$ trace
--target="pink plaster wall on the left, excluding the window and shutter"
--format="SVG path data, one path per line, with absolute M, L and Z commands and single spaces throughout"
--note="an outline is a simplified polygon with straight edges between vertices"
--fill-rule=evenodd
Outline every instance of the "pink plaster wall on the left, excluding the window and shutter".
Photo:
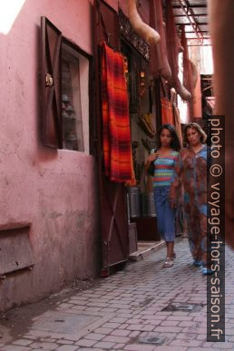
M 92 54 L 92 5 L 89 0 L 25 0 L 10 32 L 0 33 L 0 230 L 30 222 L 34 251 L 32 271 L 0 281 L 0 310 L 44 297 L 73 278 L 93 277 L 100 269 L 93 157 L 38 142 L 40 16 Z

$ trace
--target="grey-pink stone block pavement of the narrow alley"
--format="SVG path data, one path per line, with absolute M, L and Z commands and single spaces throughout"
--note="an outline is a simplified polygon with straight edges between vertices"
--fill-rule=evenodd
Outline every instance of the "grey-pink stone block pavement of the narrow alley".
M 206 342 L 206 277 L 191 265 L 187 239 L 178 241 L 176 253 L 173 268 L 161 268 L 163 248 L 109 278 L 98 279 L 92 288 L 61 298 L 55 308 L 37 313 L 29 321 L 30 327 L 0 345 L 0 350 L 234 348 L 233 251 L 226 248 L 225 343 Z M 171 303 L 197 304 L 200 310 L 163 310 Z M 24 311 L 24 307 L 19 310 Z

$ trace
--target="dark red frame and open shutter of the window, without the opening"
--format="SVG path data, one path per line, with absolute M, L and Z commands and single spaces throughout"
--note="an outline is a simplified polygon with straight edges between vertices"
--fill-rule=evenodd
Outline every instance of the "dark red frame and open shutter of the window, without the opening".
M 48 29 L 49 28 L 49 29 Z M 50 38 L 48 31 L 52 29 L 58 35 L 56 47 L 56 55 L 53 57 L 53 50 L 50 50 Z M 93 55 L 86 53 L 83 49 L 72 40 L 66 38 L 63 32 L 58 29 L 47 17 L 41 17 L 41 70 L 40 70 L 40 104 L 41 104 L 41 142 L 44 146 L 54 148 L 56 150 L 66 150 L 63 148 L 63 122 L 62 122 L 62 46 L 63 44 L 70 46 L 77 54 L 82 55 L 89 63 L 89 153 L 94 153 L 94 69 Z M 57 61 L 57 62 L 56 62 Z M 54 76 L 53 67 L 55 65 L 56 72 Z M 46 74 L 49 73 L 53 77 L 52 86 L 45 85 Z M 46 91 L 47 89 L 47 91 Z M 53 95 L 53 98 L 51 97 Z M 84 135 L 83 135 L 84 139 Z M 76 151 L 76 150 L 74 150 Z M 79 150 L 77 150 L 79 151 Z M 80 151 L 84 152 L 84 151 Z

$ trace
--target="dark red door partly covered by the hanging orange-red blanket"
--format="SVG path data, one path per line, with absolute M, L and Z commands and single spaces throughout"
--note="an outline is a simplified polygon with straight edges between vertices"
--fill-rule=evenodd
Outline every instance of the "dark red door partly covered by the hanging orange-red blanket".
M 94 154 L 100 198 L 102 233 L 102 277 L 122 266 L 129 257 L 128 211 L 126 188 L 105 176 L 103 170 L 101 43 L 120 51 L 119 19 L 117 13 L 101 0 L 94 2 L 94 62 L 95 62 L 95 125 L 93 126 Z

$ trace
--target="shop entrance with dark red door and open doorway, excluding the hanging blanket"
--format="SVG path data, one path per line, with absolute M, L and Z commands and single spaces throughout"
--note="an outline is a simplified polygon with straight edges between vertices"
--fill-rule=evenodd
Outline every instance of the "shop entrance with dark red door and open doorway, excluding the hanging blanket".
M 155 243 L 160 240 L 156 229 L 156 215 L 150 184 L 146 181 L 143 165 L 156 143 L 156 103 L 159 93 L 157 81 L 150 80 L 149 47 L 137 36 L 134 48 L 123 35 L 127 17 L 118 14 L 101 0 L 94 3 L 94 63 L 95 63 L 95 115 L 93 131 L 94 152 L 99 177 L 100 217 L 102 231 L 102 276 L 112 268 L 124 264 L 138 242 Z M 127 22 L 126 22 L 127 24 Z M 131 25 L 130 25 L 131 28 Z M 103 171 L 101 50 L 102 41 L 113 51 L 126 57 L 125 76 L 129 90 L 133 167 L 136 186 L 110 181 Z M 153 244 L 152 244 L 153 245 Z

